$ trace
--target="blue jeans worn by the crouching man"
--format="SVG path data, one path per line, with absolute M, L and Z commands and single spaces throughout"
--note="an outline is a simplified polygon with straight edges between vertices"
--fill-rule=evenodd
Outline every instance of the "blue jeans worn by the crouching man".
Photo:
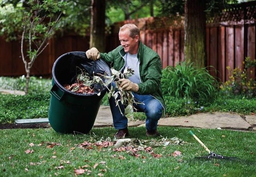
M 114 83 L 112 83 L 113 85 Z M 137 112 L 145 112 L 146 118 L 146 129 L 148 131 L 154 131 L 157 128 L 158 120 L 162 116 L 163 107 L 159 100 L 154 98 L 151 95 L 139 95 L 135 92 L 132 92 L 134 95 L 135 102 L 144 103 L 144 104 L 136 104 L 134 103 L 134 107 L 137 109 Z M 120 99 L 117 98 L 117 100 Z M 122 105 L 119 101 L 119 106 L 121 111 L 124 113 L 124 105 Z M 119 107 L 116 106 L 115 98 L 111 96 L 109 98 L 109 105 L 111 109 L 111 113 L 113 116 L 113 124 L 115 129 L 124 129 L 127 127 L 128 119 L 125 115 L 122 115 Z

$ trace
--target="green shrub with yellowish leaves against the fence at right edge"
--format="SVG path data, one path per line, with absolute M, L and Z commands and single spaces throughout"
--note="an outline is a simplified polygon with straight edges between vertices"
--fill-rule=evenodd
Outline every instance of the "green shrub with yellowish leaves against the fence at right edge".
M 252 75 L 250 68 L 256 66 L 256 60 L 247 57 L 243 64 L 245 66 L 243 70 L 238 67 L 232 70 L 232 76 L 221 86 L 221 90 L 226 94 L 242 95 L 247 98 L 256 97 L 256 80 L 250 76 Z

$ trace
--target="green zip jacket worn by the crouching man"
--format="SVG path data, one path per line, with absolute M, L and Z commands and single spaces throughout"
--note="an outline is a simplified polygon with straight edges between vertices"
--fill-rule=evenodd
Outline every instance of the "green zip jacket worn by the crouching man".
M 124 52 L 120 45 L 109 53 L 100 53 L 100 58 L 106 61 L 115 70 L 120 71 L 124 67 Z M 139 74 L 141 83 L 137 94 L 150 94 L 159 100 L 163 106 L 165 114 L 165 101 L 161 89 L 161 59 L 154 50 L 148 48 L 139 41 L 139 50 L 137 58 L 139 59 Z

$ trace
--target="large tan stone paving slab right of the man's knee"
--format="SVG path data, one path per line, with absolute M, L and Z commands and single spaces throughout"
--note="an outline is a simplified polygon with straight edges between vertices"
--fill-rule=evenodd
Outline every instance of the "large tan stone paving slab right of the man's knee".
M 159 126 L 176 127 L 198 127 L 209 129 L 237 129 L 248 130 L 251 125 L 243 120 L 239 114 L 225 112 L 199 113 L 190 116 L 161 118 L 158 121 Z

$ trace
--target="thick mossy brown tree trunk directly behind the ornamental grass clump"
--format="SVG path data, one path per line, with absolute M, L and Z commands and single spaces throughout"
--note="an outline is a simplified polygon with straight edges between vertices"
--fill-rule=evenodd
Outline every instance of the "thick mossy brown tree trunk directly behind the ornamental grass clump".
M 198 68 L 207 64 L 205 7 L 205 1 L 185 0 L 184 57 Z

